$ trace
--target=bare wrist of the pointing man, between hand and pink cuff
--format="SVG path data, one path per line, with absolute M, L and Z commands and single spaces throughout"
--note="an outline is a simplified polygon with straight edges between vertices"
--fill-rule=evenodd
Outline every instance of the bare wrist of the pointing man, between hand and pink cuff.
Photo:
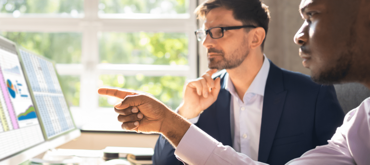
M 190 125 L 191 123 L 184 117 L 171 111 L 165 118 L 159 133 L 176 148 L 186 131 L 190 128 Z

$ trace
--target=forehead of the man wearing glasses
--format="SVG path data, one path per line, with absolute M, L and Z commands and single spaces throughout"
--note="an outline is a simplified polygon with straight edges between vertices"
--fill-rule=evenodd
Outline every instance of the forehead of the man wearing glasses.
M 204 20 L 204 26 L 208 28 L 216 26 L 238 26 L 242 24 L 241 21 L 235 20 L 232 10 L 223 7 L 210 10 Z

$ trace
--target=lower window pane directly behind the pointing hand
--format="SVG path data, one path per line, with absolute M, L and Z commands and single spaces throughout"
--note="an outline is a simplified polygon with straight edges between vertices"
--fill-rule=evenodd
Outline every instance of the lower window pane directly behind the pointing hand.
M 147 77 L 142 74 L 136 76 L 100 75 L 99 86 L 121 87 L 131 90 L 148 92 L 167 106 L 175 109 L 182 99 L 182 88 L 185 77 L 161 76 Z M 99 97 L 100 107 L 113 107 L 120 100 L 115 97 Z

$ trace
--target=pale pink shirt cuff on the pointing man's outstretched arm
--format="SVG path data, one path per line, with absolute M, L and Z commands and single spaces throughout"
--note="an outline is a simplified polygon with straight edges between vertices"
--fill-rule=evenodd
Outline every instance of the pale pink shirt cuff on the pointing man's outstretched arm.
M 218 143 L 214 138 L 192 124 L 177 145 L 175 155 L 187 164 L 205 164 Z

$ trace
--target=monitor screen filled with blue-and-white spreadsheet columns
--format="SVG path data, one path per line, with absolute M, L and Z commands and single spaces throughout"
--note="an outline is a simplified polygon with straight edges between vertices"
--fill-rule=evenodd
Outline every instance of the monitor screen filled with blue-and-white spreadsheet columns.
M 75 129 L 53 63 L 24 48 L 20 48 L 19 53 L 46 138 Z

